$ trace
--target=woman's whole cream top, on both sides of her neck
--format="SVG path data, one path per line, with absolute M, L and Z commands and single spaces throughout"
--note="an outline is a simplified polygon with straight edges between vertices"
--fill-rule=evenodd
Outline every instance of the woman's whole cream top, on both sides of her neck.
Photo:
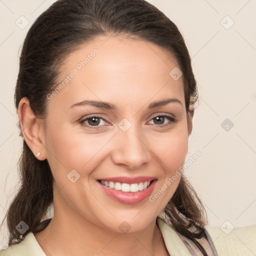
M 177 234 L 159 215 L 156 223 L 171 256 L 199 256 L 193 243 Z M 256 255 L 256 224 L 222 231 L 220 227 L 206 226 L 206 237 L 200 243 L 211 256 Z M 230 232 L 229 232 L 230 231 Z M 229 233 L 228 233 L 229 232 Z M 212 245 L 212 242 L 214 245 Z M 216 248 L 216 251 L 215 251 Z M 217 252 L 217 254 L 216 254 Z M 1 256 L 46 256 L 32 232 L 23 241 L 0 251 Z

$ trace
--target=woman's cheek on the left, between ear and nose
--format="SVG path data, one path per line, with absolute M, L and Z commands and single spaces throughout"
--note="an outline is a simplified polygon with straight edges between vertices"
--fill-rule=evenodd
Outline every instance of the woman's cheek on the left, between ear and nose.
M 104 151 L 104 146 L 111 139 L 113 134 L 96 134 L 77 132 L 62 125 L 59 129 L 54 124 L 49 127 L 45 136 L 47 159 L 54 169 L 65 168 L 67 172 L 71 169 L 77 170 L 80 174 L 91 169 L 95 162 L 99 162 Z

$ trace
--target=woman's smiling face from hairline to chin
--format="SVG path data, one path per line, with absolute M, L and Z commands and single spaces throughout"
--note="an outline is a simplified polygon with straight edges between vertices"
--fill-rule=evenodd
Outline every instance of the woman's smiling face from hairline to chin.
M 68 55 L 58 89 L 47 96 L 44 143 L 54 214 L 118 232 L 155 221 L 187 153 L 177 66 L 153 43 L 114 36 Z

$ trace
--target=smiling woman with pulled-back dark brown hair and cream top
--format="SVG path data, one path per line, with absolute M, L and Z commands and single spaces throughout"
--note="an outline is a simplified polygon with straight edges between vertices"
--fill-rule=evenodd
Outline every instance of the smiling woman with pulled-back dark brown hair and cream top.
M 153 5 L 53 3 L 20 56 L 22 184 L 1 254 L 217 255 L 182 175 L 196 99 L 184 40 Z

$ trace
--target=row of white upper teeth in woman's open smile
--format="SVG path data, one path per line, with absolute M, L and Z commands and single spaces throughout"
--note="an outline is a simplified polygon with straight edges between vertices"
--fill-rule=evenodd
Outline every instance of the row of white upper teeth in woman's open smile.
M 137 191 L 146 189 L 149 186 L 150 181 L 127 184 L 127 183 L 100 180 L 100 183 L 104 186 L 113 188 L 115 190 L 122 190 L 123 192 L 137 192 Z

